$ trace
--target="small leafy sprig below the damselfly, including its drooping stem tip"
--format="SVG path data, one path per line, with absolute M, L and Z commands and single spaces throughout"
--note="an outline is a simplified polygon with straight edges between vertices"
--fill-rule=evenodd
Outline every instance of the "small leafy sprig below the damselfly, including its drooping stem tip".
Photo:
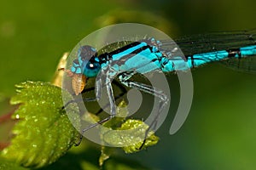
M 140 151 L 148 125 L 142 121 L 134 119 L 125 121 L 126 116 L 129 114 L 126 106 L 127 104 L 125 101 L 121 101 L 117 108 L 117 116 L 113 117 L 108 122 L 104 122 L 103 127 L 100 126 L 101 139 L 109 145 L 121 147 L 125 150 L 125 153 L 134 153 Z M 100 121 L 99 116 L 89 112 L 86 112 L 82 116 L 82 119 L 91 123 Z M 154 132 L 150 131 L 141 150 L 157 144 L 158 140 L 159 138 L 154 135 Z M 101 156 L 99 158 L 100 167 L 103 166 L 104 162 L 107 161 L 112 154 L 112 147 L 102 145 Z

